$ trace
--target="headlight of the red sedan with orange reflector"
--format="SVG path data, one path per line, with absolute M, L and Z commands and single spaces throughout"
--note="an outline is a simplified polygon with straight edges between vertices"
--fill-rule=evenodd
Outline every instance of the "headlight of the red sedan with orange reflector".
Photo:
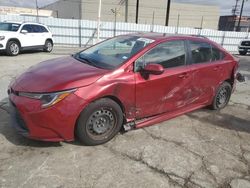
M 55 93 L 27 93 L 19 92 L 19 96 L 28 97 L 32 99 L 40 100 L 42 103 L 42 108 L 47 108 L 53 106 L 54 104 L 60 102 L 68 95 L 76 91 L 76 89 L 71 89 L 67 91 L 60 91 Z

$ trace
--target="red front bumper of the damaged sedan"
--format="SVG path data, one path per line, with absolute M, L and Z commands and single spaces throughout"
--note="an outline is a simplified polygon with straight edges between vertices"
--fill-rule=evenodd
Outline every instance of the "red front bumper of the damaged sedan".
M 77 118 L 87 105 L 71 94 L 52 107 L 42 109 L 39 100 L 9 95 L 11 123 L 21 135 L 42 141 L 72 141 Z

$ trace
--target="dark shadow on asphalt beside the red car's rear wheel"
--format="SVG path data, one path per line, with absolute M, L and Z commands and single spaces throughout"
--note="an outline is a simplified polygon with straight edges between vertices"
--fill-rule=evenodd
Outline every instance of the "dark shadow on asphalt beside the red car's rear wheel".
M 250 106 L 246 110 L 250 110 Z M 199 116 L 197 112 L 205 112 L 209 115 Z M 186 114 L 188 117 L 203 123 L 210 123 L 224 129 L 234 130 L 237 132 L 250 133 L 250 120 L 236 117 L 233 114 L 223 113 L 221 111 L 211 111 L 209 109 L 200 109 Z

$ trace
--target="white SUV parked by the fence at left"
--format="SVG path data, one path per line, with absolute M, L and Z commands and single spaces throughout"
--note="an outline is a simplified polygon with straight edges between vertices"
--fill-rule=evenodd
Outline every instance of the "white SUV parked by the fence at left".
M 53 38 L 49 28 L 32 22 L 0 22 L 0 50 L 15 56 L 25 49 L 51 52 Z

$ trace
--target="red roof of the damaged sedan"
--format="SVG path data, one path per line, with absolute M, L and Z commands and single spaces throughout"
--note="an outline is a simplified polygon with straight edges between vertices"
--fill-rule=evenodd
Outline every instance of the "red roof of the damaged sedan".
M 146 33 L 133 33 L 133 34 L 128 34 L 130 36 L 138 36 L 138 37 L 143 37 L 143 38 L 148 38 L 152 40 L 163 40 L 166 38 L 186 38 L 186 39 L 207 39 L 206 37 L 202 35 L 183 35 L 183 34 L 167 34 L 167 33 L 156 33 L 156 32 L 146 32 Z

